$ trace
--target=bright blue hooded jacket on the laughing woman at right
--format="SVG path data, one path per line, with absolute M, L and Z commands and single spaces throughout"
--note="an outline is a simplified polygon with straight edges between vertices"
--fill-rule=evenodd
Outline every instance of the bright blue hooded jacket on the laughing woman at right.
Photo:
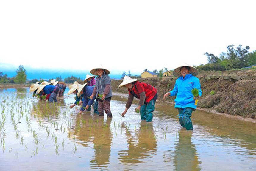
M 175 108 L 191 107 L 196 109 L 195 100 L 191 90 L 197 88 L 199 90 L 199 96 L 202 96 L 201 85 L 199 79 L 192 74 L 187 74 L 183 78 L 182 76 L 176 80 L 174 88 L 170 91 L 170 96 L 176 96 Z

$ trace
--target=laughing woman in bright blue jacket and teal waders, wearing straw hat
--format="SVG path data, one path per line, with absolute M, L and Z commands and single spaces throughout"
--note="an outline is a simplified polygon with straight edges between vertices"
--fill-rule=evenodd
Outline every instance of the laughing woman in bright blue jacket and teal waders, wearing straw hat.
M 187 130 L 193 130 L 190 117 L 192 112 L 196 110 L 196 100 L 202 96 L 200 81 L 195 77 L 197 74 L 198 70 L 188 64 L 174 69 L 173 75 L 178 79 L 173 90 L 163 96 L 164 99 L 167 96 L 176 96 L 174 107 L 179 112 L 179 123 Z

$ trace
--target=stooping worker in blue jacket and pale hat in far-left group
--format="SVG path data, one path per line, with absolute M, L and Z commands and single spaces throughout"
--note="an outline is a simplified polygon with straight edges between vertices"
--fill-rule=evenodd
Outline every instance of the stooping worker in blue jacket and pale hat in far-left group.
M 40 92 L 43 92 L 43 95 L 41 95 L 40 97 L 43 97 L 44 95 L 47 94 L 46 99 L 43 99 L 43 100 L 48 100 L 50 103 L 52 103 L 52 102 L 57 102 L 56 97 L 59 91 L 60 91 L 59 87 L 55 85 L 40 84 L 38 85 L 37 93 L 39 94 Z

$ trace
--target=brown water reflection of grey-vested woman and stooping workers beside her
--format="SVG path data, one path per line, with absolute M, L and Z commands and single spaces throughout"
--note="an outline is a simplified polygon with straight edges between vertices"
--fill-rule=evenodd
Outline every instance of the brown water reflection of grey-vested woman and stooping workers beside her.
M 110 163 L 110 153 L 113 135 L 110 131 L 112 118 L 99 117 L 96 114 L 77 114 L 72 133 L 79 144 L 88 147 L 93 144 L 95 150 L 90 160 L 91 168 L 107 168 Z

